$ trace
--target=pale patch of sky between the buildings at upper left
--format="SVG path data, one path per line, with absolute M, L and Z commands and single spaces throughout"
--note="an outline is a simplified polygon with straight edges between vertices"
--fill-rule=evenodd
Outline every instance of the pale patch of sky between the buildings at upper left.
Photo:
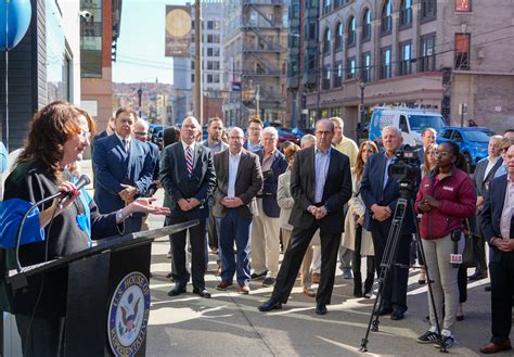
M 172 84 L 172 59 L 164 55 L 166 5 L 193 0 L 124 0 L 113 81 Z

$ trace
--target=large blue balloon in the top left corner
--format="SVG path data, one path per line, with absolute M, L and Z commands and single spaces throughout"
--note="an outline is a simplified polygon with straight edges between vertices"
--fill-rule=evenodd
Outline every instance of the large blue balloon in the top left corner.
M 31 15 L 30 0 L 0 0 L 0 50 L 10 50 L 20 43 L 30 25 Z

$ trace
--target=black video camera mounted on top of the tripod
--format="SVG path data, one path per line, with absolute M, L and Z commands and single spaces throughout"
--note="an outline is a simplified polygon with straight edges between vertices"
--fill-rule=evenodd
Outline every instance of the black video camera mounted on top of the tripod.
M 412 191 L 420 177 L 417 151 L 410 145 L 404 145 L 403 149 L 397 151 L 396 158 L 396 163 L 389 165 L 387 174 L 398 181 L 400 191 Z

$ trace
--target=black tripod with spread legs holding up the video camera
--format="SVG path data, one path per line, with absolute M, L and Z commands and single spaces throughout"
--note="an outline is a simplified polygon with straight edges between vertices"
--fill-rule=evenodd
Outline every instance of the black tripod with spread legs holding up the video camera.
M 384 248 L 384 255 L 382 257 L 381 269 L 380 269 L 380 275 L 378 275 L 378 291 L 375 296 L 375 302 L 373 303 L 373 310 L 371 311 L 370 321 L 368 323 L 368 329 L 365 331 L 364 339 L 362 339 L 362 342 L 359 348 L 360 352 L 368 352 L 368 342 L 369 342 L 368 337 L 370 336 L 370 331 L 374 331 L 374 332 L 378 331 L 378 326 L 380 326 L 378 311 L 382 309 L 382 305 L 384 303 L 383 292 L 386 286 L 386 279 L 390 273 L 391 267 L 398 265 L 396 263 L 396 257 L 398 253 L 398 245 L 400 243 L 400 238 L 401 238 L 401 227 L 403 224 L 403 219 L 406 217 L 406 212 L 408 209 L 411 209 L 412 217 L 414 219 L 415 241 L 417 243 L 417 252 L 420 256 L 423 258 L 423 262 L 425 262 L 426 280 L 427 280 L 427 285 L 428 285 L 428 293 L 431 294 L 432 309 L 434 310 L 434 315 L 435 315 L 436 328 L 437 328 L 437 331 L 441 331 L 440 326 L 439 326 L 439 319 L 437 317 L 435 302 L 434 302 L 434 294 L 432 292 L 432 280 L 428 272 L 428 267 L 426 266 L 425 250 L 423 248 L 423 244 L 421 242 L 420 228 L 417 227 L 417 220 L 415 218 L 416 214 L 415 214 L 414 204 L 413 204 L 414 182 L 410 180 L 400 180 L 398 182 L 398 186 L 400 189 L 400 199 L 398 199 L 398 202 L 396 204 L 395 214 L 393 216 L 393 222 L 389 229 L 389 233 L 387 235 L 387 242 Z M 407 268 L 407 269 L 409 268 L 408 266 L 406 267 L 402 265 L 400 265 L 400 267 Z M 440 343 L 440 352 L 447 353 L 447 348 L 442 344 L 442 335 L 440 333 L 439 333 L 439 343 Z

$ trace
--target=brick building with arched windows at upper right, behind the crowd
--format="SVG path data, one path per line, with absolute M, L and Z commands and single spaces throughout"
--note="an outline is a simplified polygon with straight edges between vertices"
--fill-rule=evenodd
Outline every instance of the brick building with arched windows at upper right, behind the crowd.
M 305 103 L 310 125 L 338 115 L 352 137 L 363 101 L 367 113 L 407 103 L 437 109 L 453 125 L 474 119 L 498 132 L 512 126 L 505 93 L 514 87 L 514 62 L 503 60 L 514 54 L 512 1 L 322 0 L 319 7 L 320 61 L 307 69 L 318 79 Z

